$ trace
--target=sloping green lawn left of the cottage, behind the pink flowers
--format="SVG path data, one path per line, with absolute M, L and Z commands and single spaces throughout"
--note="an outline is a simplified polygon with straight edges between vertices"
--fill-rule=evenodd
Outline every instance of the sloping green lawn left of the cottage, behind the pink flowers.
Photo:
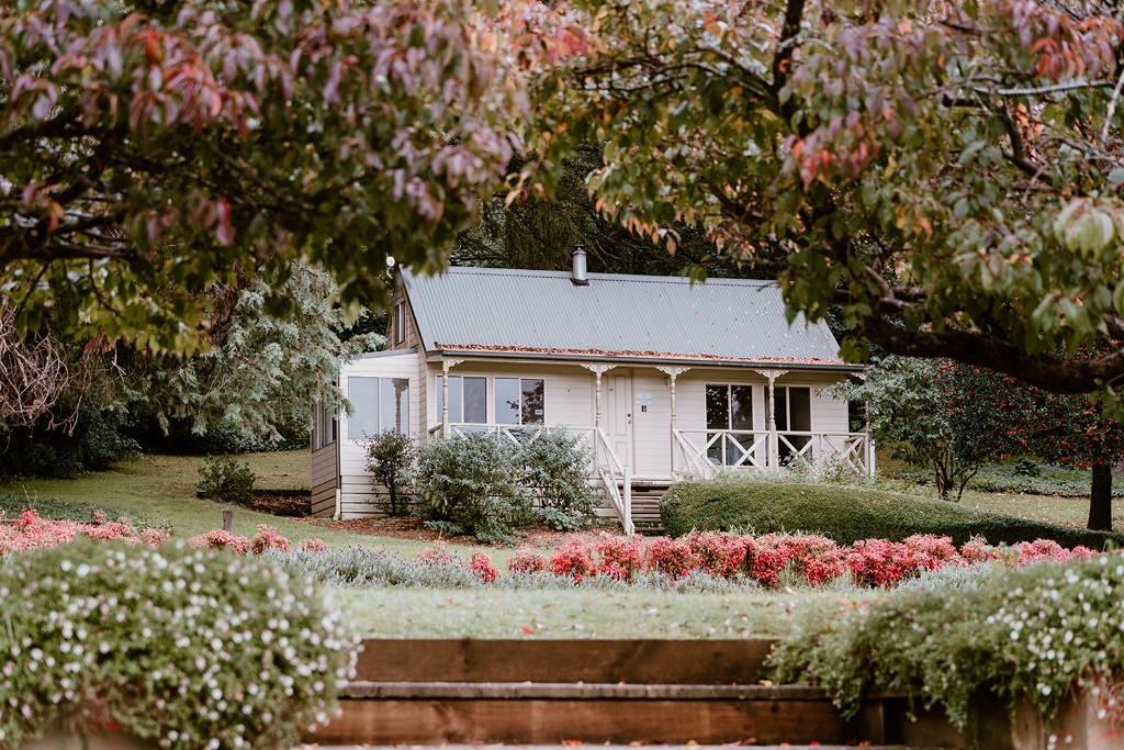
M 275 453 L 248 453 L 242 459 L 257 473 L 259 489 L 307 489 L 309 454 L 307 450 Z M 223 527 L 221 503 L 196 497 L 196 482 L 201 459 L 184 455 L 144 455 L 121 463 L 110 471 L 85 475 L 78 479 L 29 479 L 0 485 L 0 493 L 26 495 L 30 498 L 58 498 L 87 503 L 96 508 L 119 510 L 144 517 L 155 525 L 171 526 L 175 536 L 185 539 Z M 290 540 L 319 537 L 333 546 L 347 544 L 382 546 L 404 557 L 413 557 L 430 546 L 387 536 L 352 534 L 329 528 L 319 519 L 282 518 L 245 508 L 234 508 L 234 531 L 252 535 L 259 524 L 275 526 Z M 469 548 L 451 545 L 452 551 Z M 493 555 L 501 558 L 504 555 Z

